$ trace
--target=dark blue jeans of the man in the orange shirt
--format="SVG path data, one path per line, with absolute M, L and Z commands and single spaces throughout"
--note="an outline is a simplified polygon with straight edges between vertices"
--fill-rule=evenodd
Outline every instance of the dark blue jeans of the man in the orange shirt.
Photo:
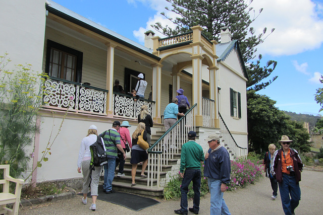
M 290 176 L 283 173 L 283 182 L 278 183 L 278 185 L 279 192 L 281 193 L 283 210 L 286 215 L 291 215 L 301 199 L 301 189 L 299 188 L 299 183 L 296 183 L 295 176 Z

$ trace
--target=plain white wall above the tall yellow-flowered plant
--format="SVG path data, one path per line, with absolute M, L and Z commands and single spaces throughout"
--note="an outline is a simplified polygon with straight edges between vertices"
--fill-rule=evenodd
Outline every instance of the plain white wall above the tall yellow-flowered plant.
M 45 0 L 0 1 L 0 55 L 14 64 L 32 64 L 41 71 L 45 32 Z

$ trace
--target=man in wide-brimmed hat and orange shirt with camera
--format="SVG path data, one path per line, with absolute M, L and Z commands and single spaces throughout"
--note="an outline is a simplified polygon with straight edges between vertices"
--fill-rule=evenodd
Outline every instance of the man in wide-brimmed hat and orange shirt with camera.
M 285 214 L 295 214 L 294 210 L 301 199 L 299 182 L 303 164 L 296 150 L 289 148 L 293 140 L 283 135 L 279 140 L 282 148 L 274 153 L 272 175 L 276 176 Z

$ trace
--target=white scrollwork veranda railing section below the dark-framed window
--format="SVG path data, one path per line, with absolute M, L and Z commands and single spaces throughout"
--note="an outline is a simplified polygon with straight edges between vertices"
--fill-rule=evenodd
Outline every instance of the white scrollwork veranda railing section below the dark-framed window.
M 106 115 L 107 90 L 57 78 L 45 81 L 44 107 Z

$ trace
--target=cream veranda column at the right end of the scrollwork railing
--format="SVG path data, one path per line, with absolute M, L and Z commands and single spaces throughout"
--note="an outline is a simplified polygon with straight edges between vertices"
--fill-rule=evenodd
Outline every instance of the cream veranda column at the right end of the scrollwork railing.
M 161 100 L 161 64 L 152 65 L 152 100 L 156 101 L 153 112 L 153 120 L 161 123 L 160 100 Z

